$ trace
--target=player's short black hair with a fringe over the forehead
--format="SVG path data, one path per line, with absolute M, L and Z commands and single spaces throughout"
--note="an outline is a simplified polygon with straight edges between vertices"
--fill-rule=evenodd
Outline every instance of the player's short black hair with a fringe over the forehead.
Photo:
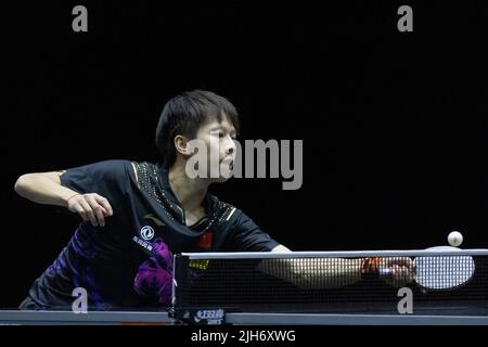
M 234 105 L 223 97 L 210 91 L 187 91 L 170 99 L 164 106 L 156 128 L 156 146 L 163 155 L 164 166 L 171 167 L 176 160 L 175 137 L 196 137 L 196 131 L 206 120 L 222 114 L 239 132 L 239 114 Z

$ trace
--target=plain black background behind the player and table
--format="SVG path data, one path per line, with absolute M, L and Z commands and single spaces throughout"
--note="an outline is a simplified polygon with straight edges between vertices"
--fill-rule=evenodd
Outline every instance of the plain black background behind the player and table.
M 480 2 L 479 2 L 480 3 Z M 88 8 L 88 33 L 72 9 Z M 397 9 L 413 8 L 413 33 Z M 363 1 L 3 8 L 0 307 L 15 307 L 78 219 L 15 194 L 16 178 L 111 158 L 159 160 L 164 103 L 229 98 L 244 139 L 304 140 L 304 184 L 213 187 L 295 250 L 488 246 L 486 9 Z

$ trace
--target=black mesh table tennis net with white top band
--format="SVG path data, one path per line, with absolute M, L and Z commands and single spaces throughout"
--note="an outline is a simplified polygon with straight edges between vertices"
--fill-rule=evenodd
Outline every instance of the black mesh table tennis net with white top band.
M 413 274 L 382 271 L 407 257 L 414 264 Z M 365 259 L 376 264 L 364 268 Z M 466 279 L 468 271 L 473 274 Z M 428 283 L 425 278 L 429 278 Z M 463 283 L 452 285 L 452 279 Z M 399 301 L 408 296 L 414 313 L 488 316 L 485 254 L 413 257 L 406 252 L 389 257 L 277 255 L 266 259 L 193 259 L 179 255 L 175 259 L 175 283 L 176 309 L 391 313 L 398 312 Z

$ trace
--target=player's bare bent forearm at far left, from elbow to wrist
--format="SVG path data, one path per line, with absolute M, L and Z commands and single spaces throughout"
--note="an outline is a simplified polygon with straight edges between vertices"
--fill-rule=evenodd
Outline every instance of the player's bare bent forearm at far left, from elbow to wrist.
M 61 185 L 55 174 L 27 174 L 15 182 L 18 195 L 38 204 L 66 207 L 67 200 L 77 192 Z

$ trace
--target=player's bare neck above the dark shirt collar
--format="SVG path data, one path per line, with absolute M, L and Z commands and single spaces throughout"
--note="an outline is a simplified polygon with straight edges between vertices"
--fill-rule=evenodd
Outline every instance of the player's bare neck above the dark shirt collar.
M 176 163 L 168 172 L 169 185 L 185 211 L 192 213 L 202 207 L 208 190 L 208 182 L 192 179 L 184 171 L 184 166 Z

